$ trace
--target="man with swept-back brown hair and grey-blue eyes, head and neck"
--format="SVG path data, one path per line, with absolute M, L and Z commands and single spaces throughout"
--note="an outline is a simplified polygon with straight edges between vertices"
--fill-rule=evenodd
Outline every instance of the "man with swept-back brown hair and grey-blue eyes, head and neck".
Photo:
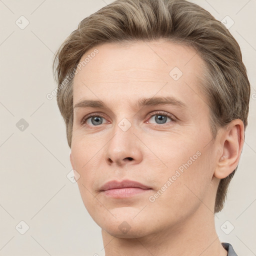
M 105 255 L 236 255 L 214 227 L 250 95 L 229 31 L 185 0 L 117 0 L 83 19 L 54 63 Z

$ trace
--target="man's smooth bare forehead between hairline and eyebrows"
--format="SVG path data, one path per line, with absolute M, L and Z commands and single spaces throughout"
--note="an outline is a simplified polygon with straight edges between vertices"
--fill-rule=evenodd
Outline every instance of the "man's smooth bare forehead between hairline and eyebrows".
M 74 103 L 106 95 L 136 99 L 141 94 L 169 93 L 182 98 L 191 90 L 190 98 L 196 98 L 204 69 L 193 48 L 164 40 L 104 43 L 85 52 L 79 63 L 73 82 Z

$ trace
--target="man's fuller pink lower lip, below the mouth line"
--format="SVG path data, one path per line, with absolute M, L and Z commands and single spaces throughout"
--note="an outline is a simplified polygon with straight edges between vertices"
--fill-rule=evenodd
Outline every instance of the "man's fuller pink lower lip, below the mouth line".
M 149 191 L 151 189 L 142 189 L 139 187 L 124 187 L 124 188 L 113 188 L 102 191 L 105 195 L 114 198 L 130 197 L 139 193 Z

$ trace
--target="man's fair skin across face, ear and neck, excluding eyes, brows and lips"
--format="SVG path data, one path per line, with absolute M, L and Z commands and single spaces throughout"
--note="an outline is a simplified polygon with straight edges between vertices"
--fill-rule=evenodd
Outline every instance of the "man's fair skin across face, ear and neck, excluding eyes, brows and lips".
M 102 228 L 105 255 L 226 255 L 214 227 L 214 201 L 219 179 L 238 164 L 242 121 L 232 120 L 212 139 L 209 106 L 199 87 L 204 63 L 192 48 L 158 40 L 104 43 L 97 49 L 74 77 L 73 106 L 100 99 L 107 107 L 74 109 L 70 162 L 80 175 L 83 203 Z M 183 73 L 178 80 L 169 75 L 173 67 Z M 153 96 L 172 96 L 185 107 L 136 106 L 138 98 Z M 157 111 L 176 119 L 159 124 Z M 102 123 L 89 118 L 82 125 L 89 113 L 103 115 Z M 131 124 L 127 131 L 118 126 L 123 118 Z M 198 151 L 197 159 L 149 201 Z M 105 182 L 123 179 L 151 189 L 128 198 L 99 191 Z M 120 224 L 129 230 L 124 233 Z

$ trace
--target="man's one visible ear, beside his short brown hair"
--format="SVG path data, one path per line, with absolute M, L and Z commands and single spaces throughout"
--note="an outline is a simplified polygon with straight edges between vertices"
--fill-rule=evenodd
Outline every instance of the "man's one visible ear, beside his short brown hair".
M 244 142 L 244 125 L 242 120 L 234 119 L 221 131 L 220 157 L 214 171 L 216 178 L 225 178 L 238 165 Z

